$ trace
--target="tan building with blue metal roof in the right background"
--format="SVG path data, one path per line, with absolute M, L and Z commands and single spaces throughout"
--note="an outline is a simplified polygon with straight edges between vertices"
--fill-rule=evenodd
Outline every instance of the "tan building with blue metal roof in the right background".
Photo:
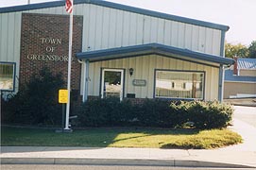
M 256 97 L 256 59 L 235 58 L 225 71 L 224 98 Z

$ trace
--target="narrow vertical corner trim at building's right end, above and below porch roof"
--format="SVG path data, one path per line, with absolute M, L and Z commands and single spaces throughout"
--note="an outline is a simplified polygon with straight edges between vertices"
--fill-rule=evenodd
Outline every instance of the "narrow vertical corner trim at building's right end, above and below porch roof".
M 221 41 L 220 41 L 220 56 L 225 58 L 225 30 L 221 30 Z M 218 76 L 218 101 L 223 102 L 223 89 L 224 89 L 224 66 L 219 65 L 219 76 Z

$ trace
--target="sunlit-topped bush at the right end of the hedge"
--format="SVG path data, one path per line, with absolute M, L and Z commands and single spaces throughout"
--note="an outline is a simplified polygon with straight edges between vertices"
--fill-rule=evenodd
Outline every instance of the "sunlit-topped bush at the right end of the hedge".
M 179 102 L 170 106 L 179 117 L 179 125 L 187 122 L 194 123 L 198 129 L 227 127 L 231 121 L 233 109 L 230 105 L 218 101 Z

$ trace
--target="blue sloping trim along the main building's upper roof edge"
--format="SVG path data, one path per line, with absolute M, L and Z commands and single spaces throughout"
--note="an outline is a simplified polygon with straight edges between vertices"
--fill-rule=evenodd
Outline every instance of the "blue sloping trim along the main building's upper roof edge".
M 102 0 L 75 0 L 75 5 L 77 4 L 94 4 L 97 6 L 107 7 L 107 8 L 116 8 L 121 10 L 126 10 L 130 12 L 135 12 L 143 15 L 158 17 L 162 19 L 177 21 L 181 23 L 196 25 L 196 26 L 205 26 L 214 29 L 228 31 L 230 26 L 224 26 L 219 24 L 214 24 L 210 22 L 200 21 L 196 19 L 181 17 L 177 15 L 162 13 L 158 11 L 153 11 L 145 8 L 136 8 L 127 5 L 112 3 L 108 1 Z M 24 11 L 24 10 L 31 10 L 31 9 L 39 9 L 39 8 L 55 8 L 65 6 L 65 1 L 54 1 L 54 2 L 46 2 L 46 3 L 39 3 L 39 4 L 30 4 L 30 5 L 22 5 L 22 6 L 14 6 L 14 7 L 7 7 L 7 8 L 0 8 L 0 13 L 8 13 L 8 12 L 17 12 L 17 11 Z

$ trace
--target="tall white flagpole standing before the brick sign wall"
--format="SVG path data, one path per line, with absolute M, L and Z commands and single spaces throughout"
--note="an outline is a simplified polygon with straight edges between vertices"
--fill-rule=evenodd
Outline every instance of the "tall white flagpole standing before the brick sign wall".
M 71 0 L 72 5 L 73 5 L 73 0 Z M 70 13 L 69 17 L 69 48 L 68 48 L 68 84 L 67 84 L 67 89 L 68 89 L 68 102 L 67 102 L 67 107 L 66 107 L 66 124 L 65 128 L 66 130 L 69 130 L 69 110 L 70 110 L 70 79 L 71 79 L 71 60 L 72 60 L 72 34 L 73 34 L 73 10 Z

